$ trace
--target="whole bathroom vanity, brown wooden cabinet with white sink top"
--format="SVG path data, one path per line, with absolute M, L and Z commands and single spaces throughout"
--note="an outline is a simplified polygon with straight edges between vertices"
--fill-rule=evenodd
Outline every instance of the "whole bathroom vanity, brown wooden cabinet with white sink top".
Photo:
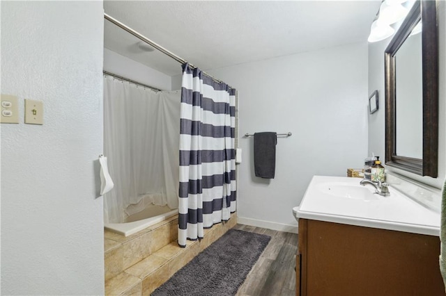
M 445 295 L 440 213 L 390 186 L 314 176 L 302 199 L 297 295 Z

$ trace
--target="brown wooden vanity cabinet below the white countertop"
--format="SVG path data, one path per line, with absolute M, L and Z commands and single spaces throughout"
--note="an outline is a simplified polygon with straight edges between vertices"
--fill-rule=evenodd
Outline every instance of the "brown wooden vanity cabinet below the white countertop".
M 299 220 L 296 295 L 445 295 L 440 238 Z

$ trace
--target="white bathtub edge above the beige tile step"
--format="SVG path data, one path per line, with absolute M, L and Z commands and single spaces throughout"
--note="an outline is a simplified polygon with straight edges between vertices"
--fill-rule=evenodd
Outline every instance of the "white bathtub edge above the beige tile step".
M 155 217 L 150 217 L 144 220 L 128 222 L 128 223 L 105 223 L 104 228 L 113 231 L 115 233 L 121 234 L 122 236 L 131 236 L 142 229 L 145 229 L 153 224 L 162 222 L 164 220 L 173 217 L 178 214 L 178 209 L 164 213 L 162 215 L 157 215 Z

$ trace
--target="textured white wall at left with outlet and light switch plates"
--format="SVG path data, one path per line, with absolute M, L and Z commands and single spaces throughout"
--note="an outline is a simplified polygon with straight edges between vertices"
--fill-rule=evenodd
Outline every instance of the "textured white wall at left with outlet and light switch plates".
M 1 1 L 1 293 L 103 295 L 102 1 Z M 43 126 L 24 124 L 24 99 Z

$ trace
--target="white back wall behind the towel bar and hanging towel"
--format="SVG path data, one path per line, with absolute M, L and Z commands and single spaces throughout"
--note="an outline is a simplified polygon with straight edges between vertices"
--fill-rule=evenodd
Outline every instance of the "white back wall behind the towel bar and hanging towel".
M 209 70 L 240 91 L 240 135 L 278 138 L 275 179 L 253 172 L 253 138 L 241 138 L 240 222 L 290 231 L 315 174 L 346 176 L 367 156 L 367 44 L 311 51 Z M 175 81 L 175 79 L 173 79 Z

